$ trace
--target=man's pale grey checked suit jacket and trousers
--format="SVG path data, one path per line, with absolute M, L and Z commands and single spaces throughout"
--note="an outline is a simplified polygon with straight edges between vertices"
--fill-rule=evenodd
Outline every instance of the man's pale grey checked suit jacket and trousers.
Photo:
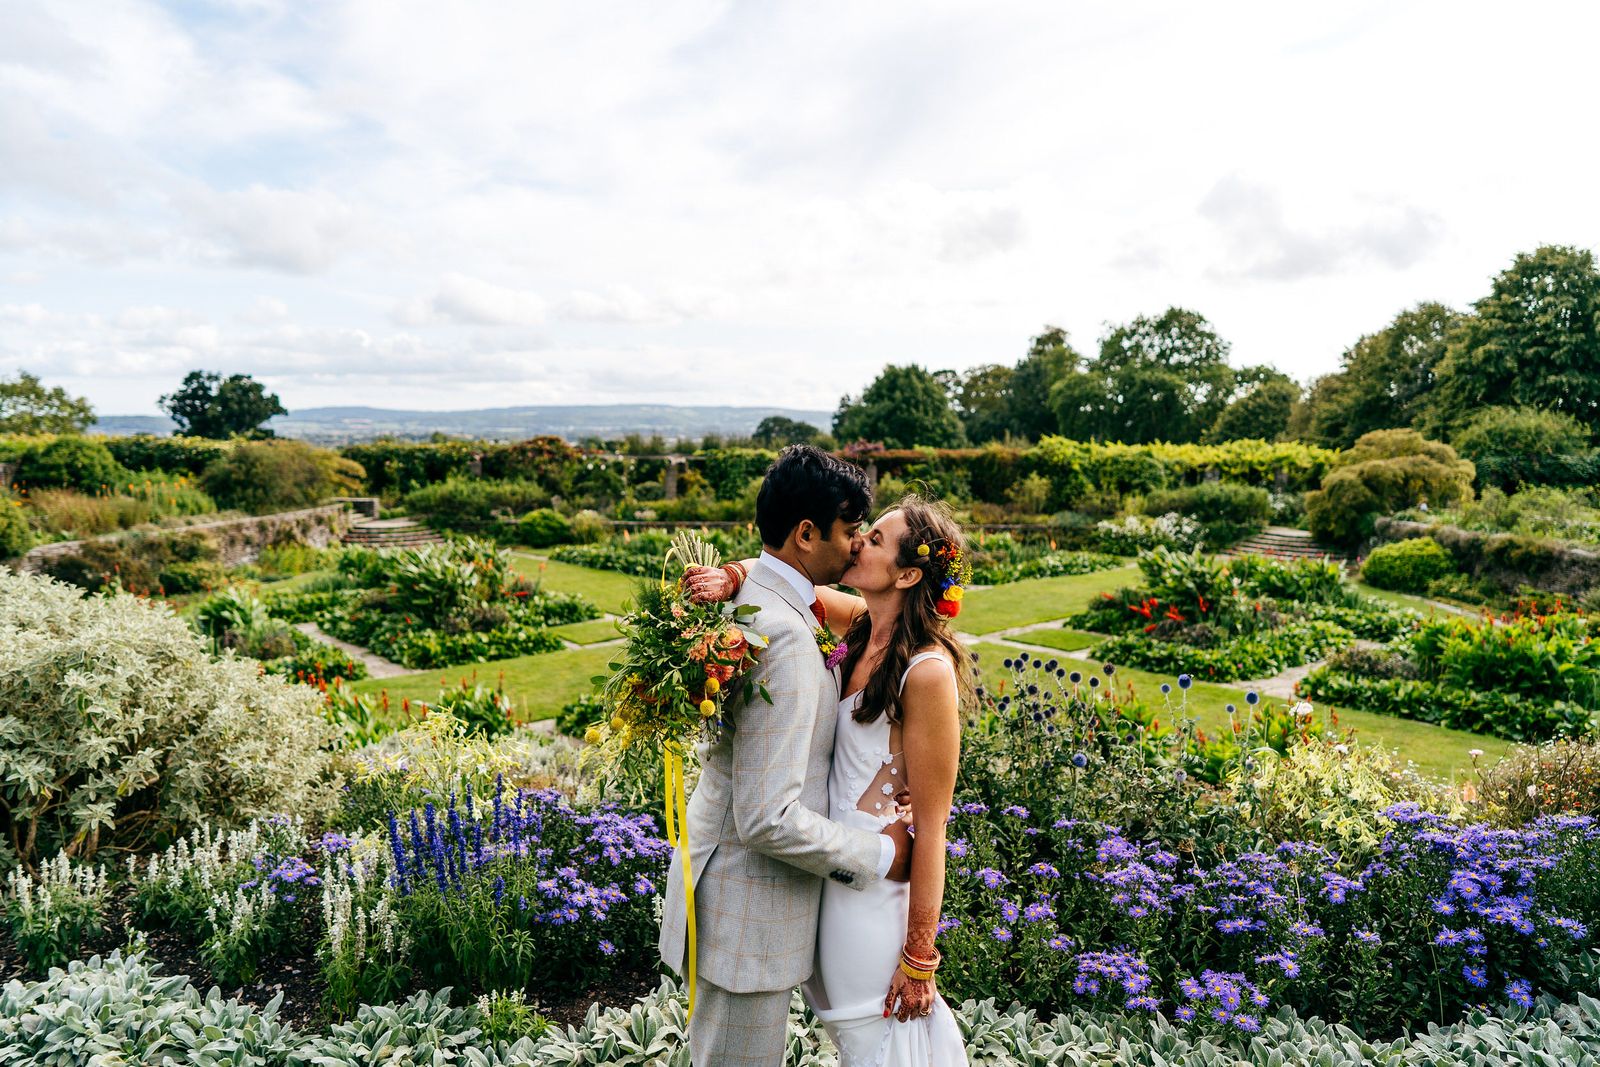
M 790 990 L 816 960 L 821 878 L 866 886 L 893 849 L 822 814 L 840 681 L 813 637 L 810 598 L 763 557 L 734 603 L 760 606 L 750 625 L 768 646 L 752 673 L 773 702 L 734 689 L 725 709 L 733 729 L 699 745 L 688 806 L 699 945 L 690 1048 L 696 1067 L 779 1067 Z M 683 859 L 674 854 L 661 958 L 680 974 L 685 941 Z

